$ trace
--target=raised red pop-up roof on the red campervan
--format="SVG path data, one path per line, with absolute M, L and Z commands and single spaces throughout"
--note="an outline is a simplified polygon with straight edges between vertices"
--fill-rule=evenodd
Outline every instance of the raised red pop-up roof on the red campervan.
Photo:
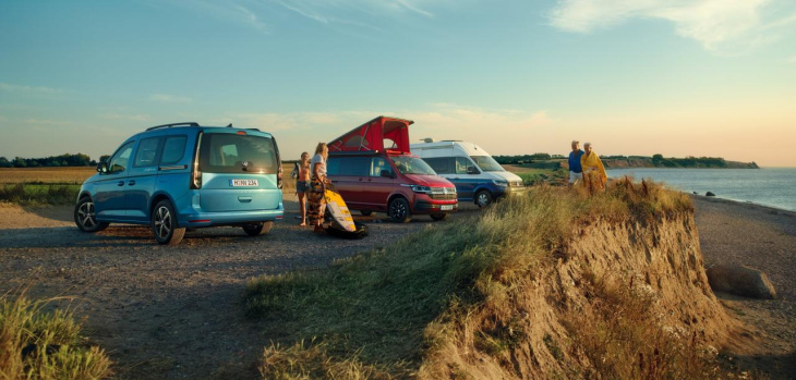
M 335 138 L 328 144 L 329 152 L 387 151 L 409 154 L 409 125 L 414 122 L 378 117 Z

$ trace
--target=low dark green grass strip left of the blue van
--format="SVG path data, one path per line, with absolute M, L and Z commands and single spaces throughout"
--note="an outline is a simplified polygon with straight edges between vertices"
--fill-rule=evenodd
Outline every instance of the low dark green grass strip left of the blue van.
M 74 205 L 81 185 L 17 183 L 0 185 L 0 201 L 21 206 Z

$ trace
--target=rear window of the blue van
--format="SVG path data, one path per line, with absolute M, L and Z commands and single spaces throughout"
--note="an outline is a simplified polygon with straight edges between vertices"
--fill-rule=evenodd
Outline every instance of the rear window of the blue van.
M 273 138 L 227 133 L 204 134 L 198 161 L 208 173 L 276 173 L 279 164 Z

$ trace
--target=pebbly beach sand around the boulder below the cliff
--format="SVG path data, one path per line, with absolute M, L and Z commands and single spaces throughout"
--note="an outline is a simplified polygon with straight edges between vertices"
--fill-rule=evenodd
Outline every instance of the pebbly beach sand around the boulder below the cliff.
M 796 378 L 796 212 L 703 196 L 694 203 L 705 266 L 759 269 L 776 290 L 776 299 L 716 293 L 750 330 L 727 354 L 772 379 Z

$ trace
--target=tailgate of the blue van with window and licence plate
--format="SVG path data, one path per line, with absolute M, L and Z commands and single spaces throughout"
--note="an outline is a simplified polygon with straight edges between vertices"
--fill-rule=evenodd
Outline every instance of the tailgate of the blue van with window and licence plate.
M 201 137 L 200 206 L 205 212 L 279 208 L 279 155 L 274 137 L 249 130 L 207 131 Z

